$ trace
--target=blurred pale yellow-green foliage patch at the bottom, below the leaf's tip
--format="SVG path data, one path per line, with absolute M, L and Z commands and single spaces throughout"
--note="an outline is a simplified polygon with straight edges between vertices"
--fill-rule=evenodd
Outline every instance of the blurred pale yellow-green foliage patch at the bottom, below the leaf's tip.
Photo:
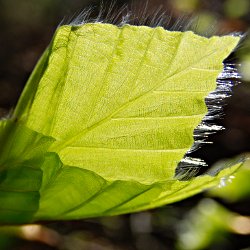
M 235 215 L 211 199 L 203 199 L 180 223 L 179 250 L 209 249 L 212 242 L 223 242 Z M 211 249 L 211 248 L 210 248 Z

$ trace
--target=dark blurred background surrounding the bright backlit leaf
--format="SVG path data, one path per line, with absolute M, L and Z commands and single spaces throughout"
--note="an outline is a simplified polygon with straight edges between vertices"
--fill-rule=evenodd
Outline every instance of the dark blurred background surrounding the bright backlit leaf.
M 114 1 L 103 0 L 102 2 L 103 6 L 109 6 Z M 140 15 L 141 9 L 145 6 L 149 15 L 153 15 L 161 6 L 162 11 L 171 15 L 172 22 L 180 20 L 183 16 L 187 19 L 195 19 L 194 26 L 191 28 L 199 34 L 221 35 L 237 31 L 245 33 L 250 26 L 249 0 L 151 0 L 147 4 L 140 0 L 117 0 L 114 5 L 119 8 L 124 4 L 130 6 L 135 15 Z M 89 6 L 96 7 L 93 11 L 94 16 L 98 14 L 100 1 L 0 0 L 0 117 L 7 115 L 15 107 L 35 63 L 49 44 L 59 23 L 62 20 L 69 20 Z M 233 59 L 241 64 L 239 70 L 243 80 L 241 84 L 234 87 L 234 95 L 228 98 L 225 105 L 224 119 L 219 121 L 227 129 L 210 138 L 214 141 L 212 146 L 207 146 L 198 152 L 199 156 L 210 164 L 225 157 L 250 151 L 250 39 L 248 35 Z M 245 176 L 249 177 L 247 170 Z M 247 183 L 247 180 L 245 182 Z M 237 185 L 234 185 L 235 189 L 238 188 Z M 202 238 L 198 232 L 207 230 L 211 223 L 209 217 L 206 217 L 204 208 L 218 210 L 217 215 L 223 208 L 225 214 L 242 216 L 246 219 L 246 225 L 250 227 L 250 222 L 247 220 L 250 216 L 250 187 L 248 183 L 245 186 L 244 192 L 247 195 L 233 201 L 220 195 L 217 197 L 214 194 L 200 194 L 170 206 L 133 215 L 54 222 L 28 229 L 11 228 L 7 231 L 4 229 L 2 234 L 0 233 L 0 249 L 249 250 L 250 230 L 247 231 L 248 233 L 242 233 L 235 228 L 235 230 L 228 228 L 228 225 L 221 226 L 221 223 L 212 224 L 214 230 L 211 229 L 205 233 L 212 236 L 205 237 L 203 245 L 195 247 L 191 244 L 193 241 L 198 244 L 199 239 Z M 196 214 L 198 219 L 191 214 Z M 205 224 L 200 223 L 197 227 L 198 231 L 195 231 L 194 221 L 202 221 L 202 218 L 207 218 L 207 221 L 205 219 Z M 224 218 L 223 215 L 221 218 Z M 187 224 L 192 226 L 188 227 Z M 219 230 L 220 234 L 217 234 L 216 230 Z M 193 232 L 191 234 L 193 239 L 190 239 L 188 231 Z

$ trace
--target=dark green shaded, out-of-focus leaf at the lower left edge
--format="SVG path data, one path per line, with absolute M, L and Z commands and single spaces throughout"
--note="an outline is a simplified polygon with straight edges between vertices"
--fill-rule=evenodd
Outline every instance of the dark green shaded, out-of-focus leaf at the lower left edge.
M 54 139 L 12 121 L 1 132 L 0 223 L 27 223 L 39 208 L 41 165 Z

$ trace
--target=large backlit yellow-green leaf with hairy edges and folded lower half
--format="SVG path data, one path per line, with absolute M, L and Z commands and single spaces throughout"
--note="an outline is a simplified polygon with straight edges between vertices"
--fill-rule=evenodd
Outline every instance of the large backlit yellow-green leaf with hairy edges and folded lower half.
M 217 185 L 240 164 L 190 181 L 174 173 L 238 41 L 160 27 L 60 27 L 1 129 L 0 179 L 22 190 L 14 169 L 36 183 L 32 220 L 139 211 Z

